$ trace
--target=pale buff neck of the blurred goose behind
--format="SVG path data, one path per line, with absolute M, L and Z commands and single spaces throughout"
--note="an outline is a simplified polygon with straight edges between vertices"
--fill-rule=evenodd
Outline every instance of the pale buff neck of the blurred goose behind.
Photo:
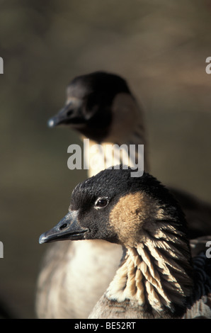
M 94 168 L 89 167 L 89 176 L 93 176 L 99 171 L 117 164 L 136 166 L 141 159 L 142 161 L 144 159 L 144 171 L 149 172 L 142 108 L 129 94 L 118 94 L 113 101 L 112 110 L 112 125 L 110 126 L 108 137 L 101 143 L 101 149 L 96 147 L 98 142 L 89 140 L 89 147 L 84 152 L 86 165 L 90 165 L 91 161 L 91 166 L 95 165 Z M 128 158 L 130 145 L 135 147 L 134 158 Z M 144 145 L 144 152 L 139 149 L 138 145 Z M 117 146 L 122 146 L 120 154 Z

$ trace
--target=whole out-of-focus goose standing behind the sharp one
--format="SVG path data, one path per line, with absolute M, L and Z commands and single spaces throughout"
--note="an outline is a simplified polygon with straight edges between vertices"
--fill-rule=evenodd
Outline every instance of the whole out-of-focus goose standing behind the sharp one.
M 49 120 L 49 125 L 64 125 L 78 131 L 81 137 L 89 138 L 89 147 L 96 143 L 101 143 L 103 149 L 110 143 L 119 146 L 135 144 L 136 147 L 142 144 L 144 171 L 149 171 L 142 108 L 131 94 L 127 82 L 115 74 L 94 72 L 76 77 L 67 87 L 66 106 Z M 85 153 L 89 159 L 91 149 Z M 89 176 L 105 169 L 102 156 L 98 156 L 101 160 L 98 169 L 88 170 Z M 115 165 L 115 160 L 111 160 L 111 164 Z M 132 164 L 130 160 L 128 164 Z M 192 226 L 190 236 L 209 233 L 207 220 L 210 220 L 211 209 L 179 191 L 176 196 L 185 203 L 183 209 Z M 121 253 L 117 244 L 97 240 L 52 244 L 38 278 L 38 317 L 86 318 L 113 278 Z M 87 266 L 84 266 L 84 261 Z M 105 263 L 108 265 L 106 269 Z M 102 278 L 96 279 L 99 272 L 102 272 Z M 85 281 L 89 281 L 86 290 L 82 287 Z

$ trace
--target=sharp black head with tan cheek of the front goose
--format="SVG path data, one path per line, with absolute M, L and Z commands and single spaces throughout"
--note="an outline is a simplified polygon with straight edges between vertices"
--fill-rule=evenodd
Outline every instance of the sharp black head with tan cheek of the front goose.
M 103 239 L 124 247 L 168 229 L 186 235 L 177 201 L 153 176 L 131 177 L 131 169 L 105 169 L 74 188 L 69 212 L 40 236 L 40 243 L 64 239 Z M 167 236 L 166 236 L 167 237 Z

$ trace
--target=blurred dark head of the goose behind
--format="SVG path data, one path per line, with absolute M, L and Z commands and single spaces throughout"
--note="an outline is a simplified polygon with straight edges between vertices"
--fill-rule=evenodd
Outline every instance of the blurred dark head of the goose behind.
M 48 125 L 67 126 L 96 142 L 115 141 L 121 139 L 121 132 L 123 135 L 137 125 L 142 115 L 137 108 L 125 79 L 93 72 L 69 83 L 65 106 L 48 120 Z

